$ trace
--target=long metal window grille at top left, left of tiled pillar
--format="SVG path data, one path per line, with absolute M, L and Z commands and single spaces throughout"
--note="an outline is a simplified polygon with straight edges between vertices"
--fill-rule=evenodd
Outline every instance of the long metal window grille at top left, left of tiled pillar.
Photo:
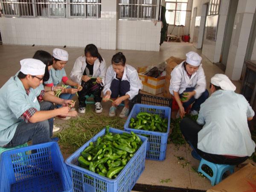
M 5 17 L 100 18 L 101 0 L 0 0 Z

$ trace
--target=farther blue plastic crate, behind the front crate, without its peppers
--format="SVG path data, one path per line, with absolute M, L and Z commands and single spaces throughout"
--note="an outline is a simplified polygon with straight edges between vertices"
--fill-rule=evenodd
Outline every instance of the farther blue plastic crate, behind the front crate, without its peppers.
M 163 106 L 155 106 L 155 105 L 143 105 L 143 104 L 135 104 L 129 114 L 124 128 L 125 131 L 133 131 L 134 133 L 146 134 L 148 135 L 148 144 L 146 151 L 146 159 L 150 160 L 159 160 L 163 161 L 166 157 L 166 145 L 167 139 L 170 131 L 170 122 L 171 122 L 171 108 L 163 107 Z M 151 114 L 158 114 L 159 116 L 168 119 L 168 128 L 166 133 L 157 132 L 157 131 L 145 131 L 140 129 L 132 129 L 129 128 L 130 119 L 135 118 L 138 113 L 147 112 Z

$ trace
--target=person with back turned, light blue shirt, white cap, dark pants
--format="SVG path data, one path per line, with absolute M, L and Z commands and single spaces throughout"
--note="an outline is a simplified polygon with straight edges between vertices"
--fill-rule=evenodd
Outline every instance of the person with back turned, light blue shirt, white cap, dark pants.
M 195 149 L 193 157 L 238 165 L 255 150 L 247 122 L 253 119 L 254 111 L 243 95 L 234 92 L 235 85 L 224 74 L 211 78 L 210 90 L 212 94 L 201 104 L 197 122 L 183 118 L 181 132 Z

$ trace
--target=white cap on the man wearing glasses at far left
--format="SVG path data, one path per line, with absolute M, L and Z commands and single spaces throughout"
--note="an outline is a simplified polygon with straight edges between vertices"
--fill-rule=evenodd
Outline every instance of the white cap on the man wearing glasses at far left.
M 44 75 L 46 67 L 46 65 L 42 61 L 33 58 L 22 59 L 20 61 L 20 65 L 20 72 L 25 75 L 30 74 L 32 76 Z

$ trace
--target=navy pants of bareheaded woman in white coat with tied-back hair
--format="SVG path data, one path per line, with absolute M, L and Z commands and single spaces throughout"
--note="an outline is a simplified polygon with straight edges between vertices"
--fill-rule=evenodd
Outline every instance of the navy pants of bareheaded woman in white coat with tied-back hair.
M 118 95 L 125 96 L 125 94 L 130 90 L 129 81 L 121 81 L 113 79 L 110 86 L 111 98 L 116 99 Z

